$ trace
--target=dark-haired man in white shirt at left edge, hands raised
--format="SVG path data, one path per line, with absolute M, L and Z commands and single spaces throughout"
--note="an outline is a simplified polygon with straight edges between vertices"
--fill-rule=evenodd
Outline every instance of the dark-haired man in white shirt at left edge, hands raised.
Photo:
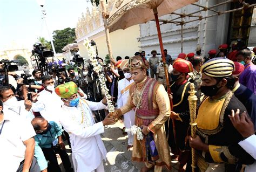
M 38 94 L 32 94 L 33 101 L 36 101 Z M 26 98 L 25 100 L 18 101 L 14 92 L 8 86 L 0 87 L 0 100 L 3 102 L 4 110 L 3 111 L 12 111 L 14 114 L 23 116 L 28 120 L 34 118 L 32 101 Z

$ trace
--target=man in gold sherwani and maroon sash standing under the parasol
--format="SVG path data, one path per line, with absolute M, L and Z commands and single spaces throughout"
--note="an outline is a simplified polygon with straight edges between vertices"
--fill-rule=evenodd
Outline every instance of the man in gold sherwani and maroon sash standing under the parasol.
M 154 167 L 161 171 L 162 166 L 171 169 L 171 156 L 166 139 L 164 123 L 171 114 L 170 100 L 163 85 L 147 77 L 149 65 L 140 56 L 129 59 L 129 68 L 134 84 L 130 87 L 127 103 L 117 109 L 113 116 L 118 117 L 131 109 L 136 112 L 135 125 L 142 128 L 143 140 L 134 135 L 132 160 L 145 162 L 142 171 Z

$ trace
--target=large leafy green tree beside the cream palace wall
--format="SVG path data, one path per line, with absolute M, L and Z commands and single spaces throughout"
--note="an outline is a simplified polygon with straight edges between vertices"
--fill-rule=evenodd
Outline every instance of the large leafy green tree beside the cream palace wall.
M 64 46 L 74 43 L 76 40 L 75 28 L 66 28 L 53 31 L 53 44 L 55 51 L 61 53 Z

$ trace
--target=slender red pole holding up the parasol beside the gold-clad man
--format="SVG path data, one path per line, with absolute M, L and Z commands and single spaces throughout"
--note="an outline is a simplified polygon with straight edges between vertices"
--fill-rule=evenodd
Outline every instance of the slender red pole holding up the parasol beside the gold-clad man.
M 167 70 L 167 66 L 166 66 L 166 59 L 165 59 L 165 54 L 164 54 L 164 46 L 163 46 L 163 40 L 162 40 L 162 36 L 161 36 L 161 30 L 160 30 L 160 25 L 159 25 L 157 8 L 154 8 L 153 12 L 154 12 L 154 18 L 155 18 L 156 24 L 157 24 L 157 33 L 158 33 L 160 50 L 161 50 L 161 56 L 162 56 L 163 63 L 164 63 L 164 72 L 165 72 L 165 78 L 166 78 L 167 93 L 171 94 L 171 87 L 170 87 L 170 82 L 169 82 L 169 74 L 168 74 L 168 70 Z M 172 104 L 172 100 L 171 99 L 170 99 L 170 105 L 171 105 L 171 111 L 172 111 L 173 110 L 173 104 Z M 169 119 L 170 119 L 170 117 L 169 117 Z M 178 148 L 177 147 L 177 137 L 176 137 L 176 127 L 175 127 L 175 121 L 174 120 L 172 120 L 172 129 L 173 129 L 173 136 L 174 136 L 175 147 Z M 174 152 L 178 153 L 178 149 L 174 150 Z

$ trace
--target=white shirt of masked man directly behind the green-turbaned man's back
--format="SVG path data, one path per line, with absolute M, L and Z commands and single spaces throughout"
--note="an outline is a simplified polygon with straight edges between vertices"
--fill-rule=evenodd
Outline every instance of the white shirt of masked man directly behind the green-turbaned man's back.
M 43 110 L 40 111 L 40 114 L 48 121 L 58 122 L 58 109 L 63 105 L 63 101 L 60 97 L 53 91 L 52 93 L 46 90 L 38 93 L 37 105 L 42 107 Z

